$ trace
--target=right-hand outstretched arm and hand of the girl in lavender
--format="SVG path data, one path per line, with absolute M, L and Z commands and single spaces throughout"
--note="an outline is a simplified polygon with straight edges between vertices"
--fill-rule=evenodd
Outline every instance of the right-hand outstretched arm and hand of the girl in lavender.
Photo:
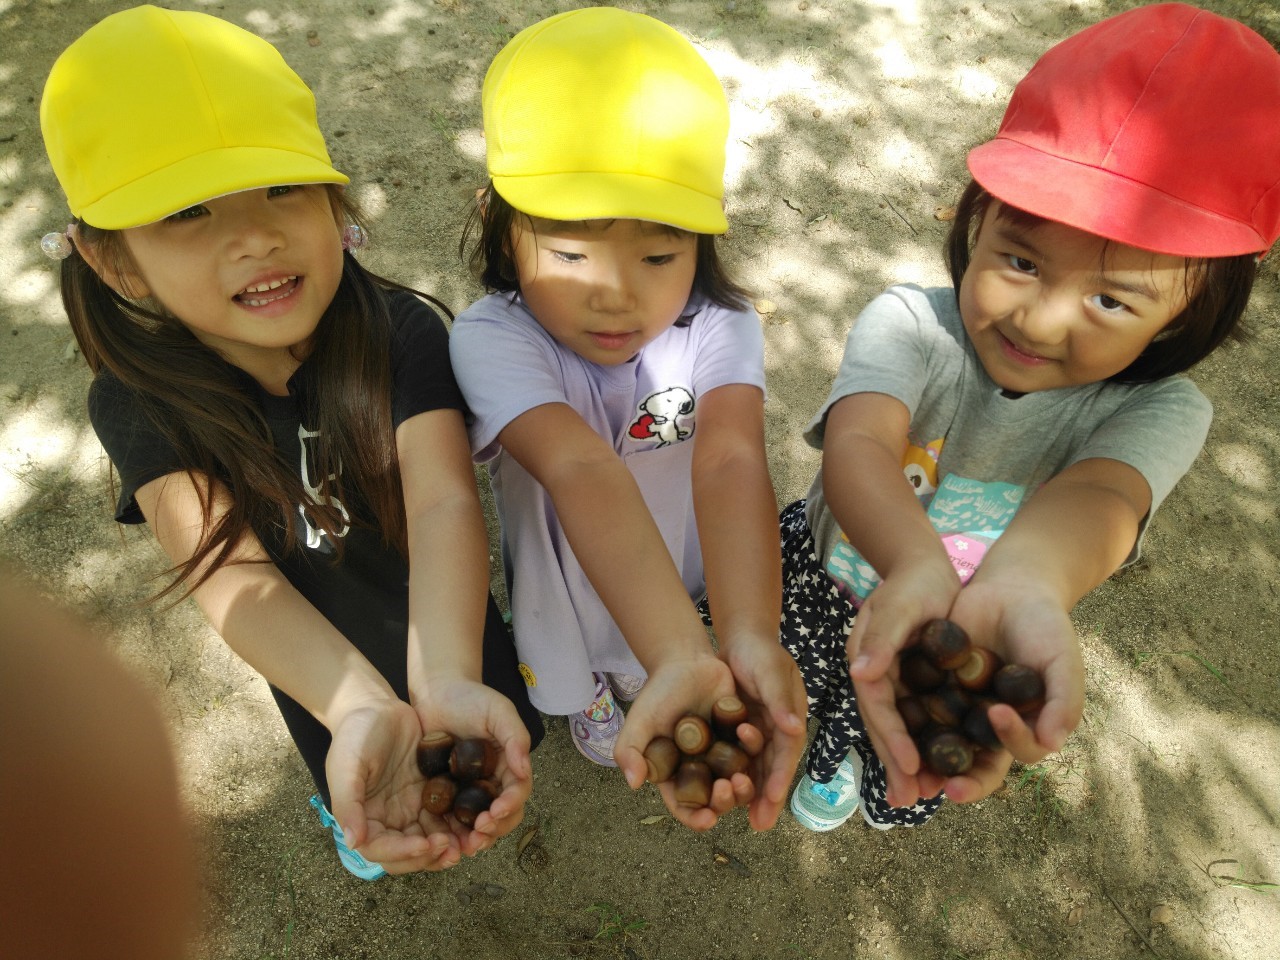
M 778 643 L 782 556 L 758 388 L 730 384 L 699 399 L 692 475 L 721 655 L 765 737 L 750 820 L 768 829 L 782 812 L 804 751 L 806 704 L 800 671 Z

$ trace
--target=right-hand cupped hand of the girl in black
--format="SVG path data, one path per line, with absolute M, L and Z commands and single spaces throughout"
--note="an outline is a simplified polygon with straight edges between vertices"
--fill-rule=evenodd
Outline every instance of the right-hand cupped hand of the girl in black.
M 502 792 L 493 805 L 470 828 L 449 818 L 463 854 L 474 856 L 488 850 L 525 817 L 525 803 L 534 787 L 529 731 L 511 700 L 484 684 L 463 678 L 433 678 L 430 696 L 417 703 L 417 714 L 424 731 L 484 737 L 502 748 L 493 776 Z

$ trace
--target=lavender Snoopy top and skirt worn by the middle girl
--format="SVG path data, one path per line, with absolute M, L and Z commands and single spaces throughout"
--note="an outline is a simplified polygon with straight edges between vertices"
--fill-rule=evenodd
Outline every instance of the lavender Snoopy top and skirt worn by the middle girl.
M 567 403 L 631 471 L 691 598 L 704 593 L 694 517 L 698 404 L 726 384 L 764 389 L 764 335 L 755 311 L 690 305 L 627 364 L 600 366 L 566 349 L 524 301 L 492 294 L 453 324 L 449 355 L 472 417 L 471 451 L 488 463 L 502 522 L 512 623 L 529 699 L 544 713 L 584 709 L 591 672 L 644 676 L 586 579 L 547 490 L 498 435 L 521 413 Z M 554 443 L 554 436 L 547 438 Z M 636 579 L 636 591 L 646 586 Z

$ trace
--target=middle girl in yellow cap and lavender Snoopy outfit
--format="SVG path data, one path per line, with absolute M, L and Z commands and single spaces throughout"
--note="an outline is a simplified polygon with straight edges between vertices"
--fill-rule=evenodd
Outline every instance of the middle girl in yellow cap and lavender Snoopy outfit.
M 724 92 L 671 27 L 590 8 L 498 54 L 484 128 L 472 265 L 497 293 L 458 316 L 451 352 L 530 699 L 637 787 L 649 740 L 736 681 L 763 708 L 763 788 L 739 774 L 692 809 L 663 795 L 694 828 L 748 801 L 769 827 L 803 749 L 804 689 L 777 644 L 760 323 L 716 252 Z M 704 590 L 723 660 L 695 608 Z M 623 726 L 616 698 L 641 685 Z

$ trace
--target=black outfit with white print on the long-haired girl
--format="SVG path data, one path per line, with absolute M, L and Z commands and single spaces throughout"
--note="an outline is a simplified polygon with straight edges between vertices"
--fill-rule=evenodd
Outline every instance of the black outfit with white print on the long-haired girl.
M 393 426 L 431 410 L 465 410 L 449 366 L 444 321 L 408 293 L 390 293 L 389 306 Z M 306 383 L 305 370 L 306 362 L 289 379 L 287 397 L 269 394 L 248 374 L 243 375 L 242 385 L 262 410 L 282 460 L 296 465 L 303 483 L 314 489 L 319 485 L 312 466 L 315 434 L 301 419 L 308 408 L 307 398 L 298 396 Z M 122 524 L 146 522 L 136 494 L 152 480 L 184 470 L 177 451 L 143 412 L 137 397 L 110 372 L 95 378 L 88 412 L 93 430 L 120 475 L 115 518 Z M 283 549 L 283 525 L 256 532 L 285 579 L 365 654 L 401 698 L 407 699 L 408 566 L 367 522 L 370 515 L 358 495 L 348 497 L 352 502 L 343 503 L 343 508 L 352 518 L 365 522 L 352 524 L 347 530 L 342 563 L 333 563 L 328 536 L 314 530 L 301 512 L 301 522 L 296 524 L 298 541 L 289 552 Z M 513 648 L 492 598 L 485 625 L 484 680 L 515 701 L 536 744 L 541 737 L 541 722 L 529 705 Z M 328 731 L 274 686 L 271 692 L 328 804 L 324 780 Z

